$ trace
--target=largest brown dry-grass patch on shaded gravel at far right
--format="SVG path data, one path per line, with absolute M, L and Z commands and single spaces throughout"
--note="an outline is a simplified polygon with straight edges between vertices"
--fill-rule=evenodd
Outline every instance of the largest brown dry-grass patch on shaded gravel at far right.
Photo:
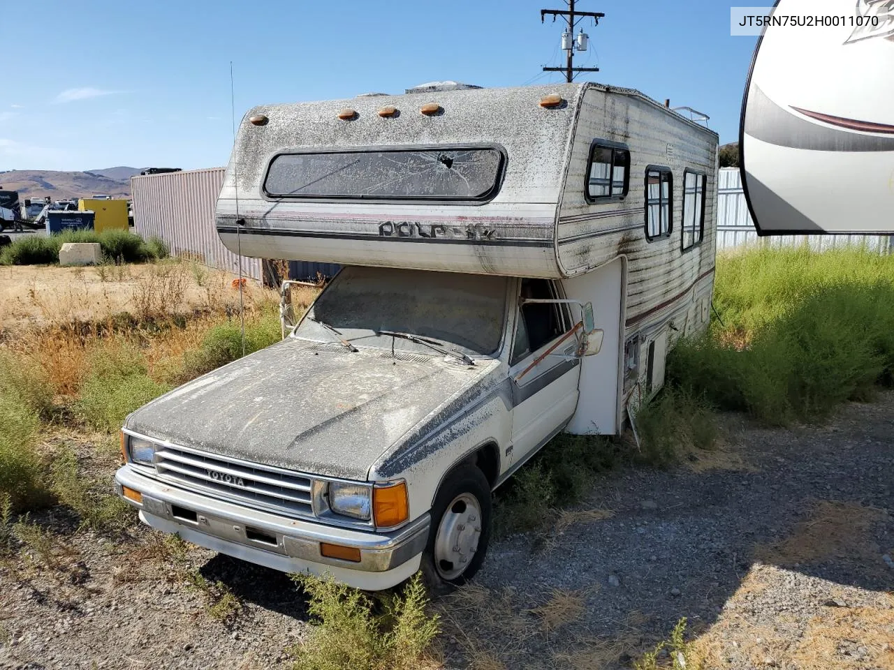
M 819 500 L 789 537 L 755 550 L 764 563 L 801 565 L 835 560 L 869 566 L 880 564 L 881 548 L 873 541 L 873 528 L 886 516 L 884 510 L 854 502 Z

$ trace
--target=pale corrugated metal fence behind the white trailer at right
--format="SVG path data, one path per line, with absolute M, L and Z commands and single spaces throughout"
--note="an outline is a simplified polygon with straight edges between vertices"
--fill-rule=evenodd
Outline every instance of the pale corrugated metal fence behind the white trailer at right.
M 721 168 L 717 194 L 717 250 L 735 247 L 797 247 L 817 251 L 835 247 L 865 246 L 880 254 L 894 253 L 891 235 L 780 235 L 758 238 L 751 221 L 738 168 Z

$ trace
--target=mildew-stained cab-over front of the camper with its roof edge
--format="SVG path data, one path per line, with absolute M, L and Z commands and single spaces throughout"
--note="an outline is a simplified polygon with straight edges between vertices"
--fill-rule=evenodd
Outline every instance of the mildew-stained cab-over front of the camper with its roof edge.
M 608 98 L 588 98 L 588 122 L 606 138 L 628 137 L 622 108 L 636 104 L 716 145 L 713 131 L 628 88 L 441 89 L 455 83 L 251 109 L 217 201 L 223 244 L 268 258 L 557 274 L 555 225 L 587 91 L 620 105 L 608 118 Z M 391 243 L 410 239 L 439 244 Z M 499 261 L 482 251 L 498 246 Z

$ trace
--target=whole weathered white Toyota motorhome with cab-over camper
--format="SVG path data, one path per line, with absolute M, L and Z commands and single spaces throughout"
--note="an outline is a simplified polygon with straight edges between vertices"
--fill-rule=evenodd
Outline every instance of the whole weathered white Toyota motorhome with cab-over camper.
M 343 269 L 282 342 L 130 415 L 119 491 L 275 569 L 463 582 L 491 492 L 560 431 L 619 432 L 707 327 L 717 140 L 597 84 L 252 109 L 223 243 Z

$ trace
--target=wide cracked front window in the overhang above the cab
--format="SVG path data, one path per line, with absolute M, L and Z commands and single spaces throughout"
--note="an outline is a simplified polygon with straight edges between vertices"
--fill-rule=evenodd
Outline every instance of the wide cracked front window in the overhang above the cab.
M 491 147 L 282 154 L 264 188 L 271 197 L 482 201 L 499 190 L 503 163 Z

